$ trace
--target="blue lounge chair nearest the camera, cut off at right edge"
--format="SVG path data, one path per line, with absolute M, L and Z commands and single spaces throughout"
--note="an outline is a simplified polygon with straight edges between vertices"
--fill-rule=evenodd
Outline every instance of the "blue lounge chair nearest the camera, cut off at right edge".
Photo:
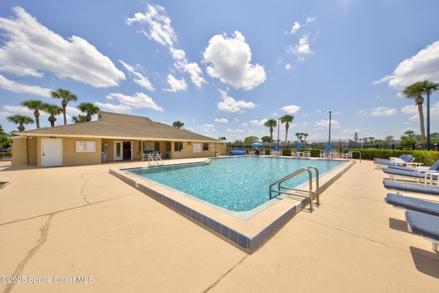
M 431 250 L 439 253 L 439 217 L 415 211 L 406 211 L 407 229 L 409 232 L 422 235 L 431 242 Z

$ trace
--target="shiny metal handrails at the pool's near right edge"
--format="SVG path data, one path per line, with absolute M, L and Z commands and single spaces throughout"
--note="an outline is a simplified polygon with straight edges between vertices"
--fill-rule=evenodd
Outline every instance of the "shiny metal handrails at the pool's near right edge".
M 312 179 L 312 173 L 311 170 L 309 169 L 313 169 L 316 170 L 316 191 L 313 191 L 313 179 Z M 295 177 L 301 173 L 304 172 L 308 172 L 309 175 L 309 191 L 307 190 L 300 190 L 300 189 L 296 189 L 296 188 L 289 188 L 289 187 L 285 187 L 285 186 L 281 186 L 281 183 L 283 183 L 284 181 L 287 181 L 288 179 L 291 179 L 292 177 Z M 273 190 L 273 186 L 278 186 L 278 190 Z M 308 194 L 298 194 L 296 192 L 287 192 L 287 191 L 282 191 L 281 188 L 286 189 L 286 190 L 295 190 L 298 192 L 308 192 Z M 288 194 L 288 195 L 295 195 L 295 196 L 302 196 L 305 198 L 309 198 L 309 211 L 313 212 L 313 200 L 314 200 L 314 196 L 313 194 L 316 194 L 316 199 L 317 199 L 317 203 L 316 205 L 319 206 L 320 205 L 320 186 L 319 186 L 319 181 L 318 181 L 318 168 L 314 167 L 314 166 L 309 166 L 307 168 L 301 168 L 299 170 L 297 170 L 296 172 L 287 175 L 286 177 L 283 177 L 282 179 L 279 179 L 278 181 L 272 183 L 270 185 L 270 199 L 273 198 L 272 196 L 272 192 L 276 192 L 278 193 L 277 196 L 281 195 L 281 194 Z

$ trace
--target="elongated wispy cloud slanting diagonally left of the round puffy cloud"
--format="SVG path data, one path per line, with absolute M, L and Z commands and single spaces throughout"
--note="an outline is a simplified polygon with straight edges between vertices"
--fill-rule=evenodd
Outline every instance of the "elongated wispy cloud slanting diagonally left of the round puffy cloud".
M 147 36 L 147 38 L 150 38 L 150 40 L 152 39 L 169 49 L 169 53 L 176 61 L 174 67 L 178 69 L 178 71 L 189 73 L 191 81 L 198 88 L 206 82 L 204 77 L 202 77 L 203 73 L 200 66 L 195 62 L 188 63 L 185 51 L 175 47 L 175 43 L 178 41 L 177 34 L 171 25 L 171 18 L 167 16 L 165 8 L 160 5 L 148 4 L 147 11 L 144 14 L 137 12 L 134 14 L 134 17 L 128 18 L 126 22 L 128 25 L 132 25 L 133 23 L 146 24 L 147 29 L 142 29 L 141 32 Z M 176 80 L 171 82 L 174 81 Z M 172 86 L 176 86 L 176 88 L 173 88 Z M 186 90 L 186 88 L 187 86 L 183 88 L 182 83 L 180 82 L 177 84 L 171 84 L 171 90 L 168 91 L 176 92 L 178 90 Z

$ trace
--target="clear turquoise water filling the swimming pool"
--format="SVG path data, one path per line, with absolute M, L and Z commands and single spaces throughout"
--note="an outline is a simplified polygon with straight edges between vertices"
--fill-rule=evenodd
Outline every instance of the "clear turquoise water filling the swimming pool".
M 215 158 L 209 163 L 137 168 L 130 172 L 236 212 L 249 211 L 270 201 L 270 184 L 300 168 L 314 166 L 319 175 L 343 161 L 281 157 Z M 313 176 L 315 172 L 312 171 Z M 308 181 L 307 172 L 285 182 L 296 187 Z

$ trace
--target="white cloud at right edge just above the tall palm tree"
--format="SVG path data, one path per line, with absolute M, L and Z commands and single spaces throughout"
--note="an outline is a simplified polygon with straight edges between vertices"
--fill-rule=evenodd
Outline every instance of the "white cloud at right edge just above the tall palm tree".
M 439 80 L 439 41 L 430 44 L 420 50 L 412 58 L 403 60 L 392 73 L 373 84 L 387 82 L 390 87 L 401 90 L 416 81 L 425 79 L 430 81 Z

